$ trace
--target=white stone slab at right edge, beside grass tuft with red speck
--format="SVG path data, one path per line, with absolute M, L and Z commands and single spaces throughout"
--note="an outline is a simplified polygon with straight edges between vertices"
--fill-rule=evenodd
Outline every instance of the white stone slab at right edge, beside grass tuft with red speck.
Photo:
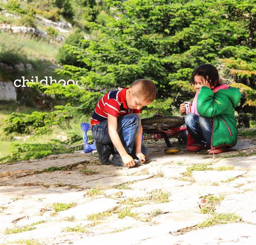
M 225 196 L 224 200 L 216 206 L 218 213 L 228 212 L 241 215 L 254 211 L 256 211 L 255 191 Z

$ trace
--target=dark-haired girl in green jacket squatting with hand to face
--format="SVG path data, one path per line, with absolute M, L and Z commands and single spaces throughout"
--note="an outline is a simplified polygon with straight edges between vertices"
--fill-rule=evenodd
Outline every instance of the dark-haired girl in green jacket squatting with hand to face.
M 210 154 L 225 152 L 236 145 L 238 130 L 234 108 L 241 93 L 238 88 L 221 85 L 218 70 L 210 64 L 195 68 L 191 82 L 197 93 L 192 111 L 185 116 L 188 131 L 187 150 L 197 152 L 210 149 Z M 180 105 L 185 114 L 185 105 Z

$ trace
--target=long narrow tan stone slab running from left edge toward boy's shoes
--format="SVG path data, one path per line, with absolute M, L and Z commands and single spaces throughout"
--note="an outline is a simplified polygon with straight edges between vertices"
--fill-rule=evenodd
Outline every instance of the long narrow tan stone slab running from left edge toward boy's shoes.
M 92 158 L 88 157 L 71 157 L 64 159 L 47 159 L 31 163 L 16 163 L 12 165 L 0 165 L 0 177 L 16 175 L 20 173 L 34 173 L 43 171 L 50 167 L 76 166 L 80 163 L 87 163 Z

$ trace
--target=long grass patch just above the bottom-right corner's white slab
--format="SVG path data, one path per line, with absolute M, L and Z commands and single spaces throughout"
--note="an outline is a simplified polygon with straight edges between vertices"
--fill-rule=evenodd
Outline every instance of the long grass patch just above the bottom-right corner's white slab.
M 204 228 L 213 225 L 221 225 L 227 223 L 241 222 L 241 217 L 237 216 L 235 213 L 225 213 L 225 214 L 215 214 L 210 219 L 197 224 L 197 227 Z

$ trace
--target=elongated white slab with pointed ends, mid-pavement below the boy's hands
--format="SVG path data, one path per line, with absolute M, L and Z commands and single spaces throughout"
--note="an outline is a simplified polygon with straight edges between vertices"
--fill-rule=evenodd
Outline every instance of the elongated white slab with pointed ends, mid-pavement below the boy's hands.
M 170 188 L 174 186 L 184 186 L 190 184 L 191 183 L 189 181 L 171 180 L 166 178 L 150 178 L 148 180 L 143 180 L 138 183 L 131 184 L 129 185 L 129 187 L 132 189 L 151 192 L 157 189 L 168 191 Z

